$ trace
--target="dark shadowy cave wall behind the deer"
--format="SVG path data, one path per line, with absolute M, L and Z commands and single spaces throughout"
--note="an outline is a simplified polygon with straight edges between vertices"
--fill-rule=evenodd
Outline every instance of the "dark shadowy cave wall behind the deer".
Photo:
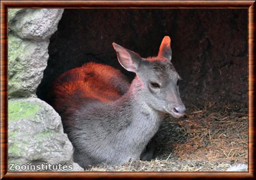
M 52 81 L 89 61 L 119 68 L 132 80 L 112 42 L 142 57 L 156 56 L 166 35 L 184 80 L 185 106 L 206 101 L 247 106 L 247 9 L 66 9 L 50 39 L 37 96 L 49 102 Z

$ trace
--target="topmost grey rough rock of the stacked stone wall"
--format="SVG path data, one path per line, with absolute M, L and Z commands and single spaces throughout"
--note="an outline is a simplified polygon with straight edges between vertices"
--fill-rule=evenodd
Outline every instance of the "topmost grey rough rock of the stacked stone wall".
M 26 9 L 16 19 L 13 18 L 14 15 L 11 16 L 14 20 L 9 29 L 22 39 L 49 39 L 57 30 L 62 13 L 63 9 Z M 15 14 L 15 10 L 12 14 Z

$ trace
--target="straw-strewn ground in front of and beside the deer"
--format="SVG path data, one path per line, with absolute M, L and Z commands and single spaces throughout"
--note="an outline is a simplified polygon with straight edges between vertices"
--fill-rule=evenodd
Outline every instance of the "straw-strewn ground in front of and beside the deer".
M 187 107 L 180 119 L 166 117 L 152 161 L 105 164 L 86 171 L 226 171 L 248 164 L 247 108 L 227 102 Z

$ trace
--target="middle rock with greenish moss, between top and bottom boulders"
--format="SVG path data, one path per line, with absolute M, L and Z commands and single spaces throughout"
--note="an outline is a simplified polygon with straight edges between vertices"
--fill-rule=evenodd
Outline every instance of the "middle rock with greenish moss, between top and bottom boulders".
M 33 96 L 48 60 L 48 41 L 27 41 L 8 37 L 9 98 Z M 34 95 L 35 96 L 35 95 Z

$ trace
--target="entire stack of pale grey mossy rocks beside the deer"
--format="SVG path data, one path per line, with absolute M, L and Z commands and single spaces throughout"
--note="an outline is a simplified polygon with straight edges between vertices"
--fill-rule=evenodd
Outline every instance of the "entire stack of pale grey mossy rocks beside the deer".
M 47 66 L 49 38 L 63 9 L 8 10 L 8 163 L 73 165 L 73 146 L 60 116 L 36 98 Z

